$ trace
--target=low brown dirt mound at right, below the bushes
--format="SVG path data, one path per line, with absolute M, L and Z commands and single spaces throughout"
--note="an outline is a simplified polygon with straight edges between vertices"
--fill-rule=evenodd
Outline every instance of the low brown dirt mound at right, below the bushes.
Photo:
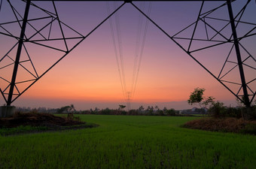
M 183 125 L 207 131 L 223 131 L 233 133 L 256 134 L 256 121 L 236 118 L 202 118 L 195 119 Z

